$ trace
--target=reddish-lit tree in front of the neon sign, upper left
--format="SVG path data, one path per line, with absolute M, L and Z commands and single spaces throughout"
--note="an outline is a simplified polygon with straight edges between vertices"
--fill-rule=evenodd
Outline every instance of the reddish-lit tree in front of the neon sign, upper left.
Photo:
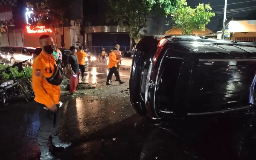
M 29 24 L 32 27 L 46 26 L 52 28 L 55 43 L 58 46 L 56 36 L 59 34 L 59 28 L 68 21 L 66 15 L 71 6 L 71 0 L 44 0 L 44 3 L 29 2 L 26 5 L 33 8 L 34 11 L 34 17 L 29 21 Z

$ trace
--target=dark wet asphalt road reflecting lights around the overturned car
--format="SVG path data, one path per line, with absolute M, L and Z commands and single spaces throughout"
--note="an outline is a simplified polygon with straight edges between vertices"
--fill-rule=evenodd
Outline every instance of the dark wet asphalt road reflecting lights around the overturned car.
M 125 84 L 105 87 L 107 70 L 89 67 L 86 82 L 96 89 L 62 95 L 61 140 L 70 148 L 52 148 L 61 160 L 255 160 L 253 111 L 187 119 L 150 120 L 137 115 Z M 99 74 L 100 73 L 100 74 Z M 0 160 L 38 160 L 38 108 L 31 100 L 0 108 Z

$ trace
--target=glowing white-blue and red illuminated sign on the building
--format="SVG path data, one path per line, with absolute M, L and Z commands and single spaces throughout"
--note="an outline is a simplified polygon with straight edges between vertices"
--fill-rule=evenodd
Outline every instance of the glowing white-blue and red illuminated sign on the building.
M 34 9 L 32 8 L 31 11 L 29 11 L 28 8 L 26 8 L 26 13 L 25 13 L 25 17 L 26 17 L 26 23 L 27 23 L 27 26 L 26 26 L 26 29 L 27 29 L 27 32 L 28 33 L 51 33 L 52 30 L 49 29 L 49 28 L 45 28 L 45 26 L 36 26 L 35 28 L 31 28 L 29 25 L 31 25 L 29 23 L 30 20 L 36 22 L 38 21 L 38 18 L 36 19 L 33 15 L 34 15 Z M 40 18 L 40 17 L 39 17 Z M 42 17 L 44 18 L 44 16 Z M 47 12 L 47 19 L 49 19 L 49 14 Z

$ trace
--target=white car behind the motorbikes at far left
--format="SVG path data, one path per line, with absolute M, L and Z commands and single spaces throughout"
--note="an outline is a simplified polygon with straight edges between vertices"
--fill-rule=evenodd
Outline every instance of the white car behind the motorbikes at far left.
M 6 61 L 11 64 L 15 64 L 15 62 L 22 62 L 25 60 L 29 60 L 29 63 L 32 62 L 33 53 L 35 48 L 33 47 L 2 47 L 3 52 L 6 55 Z M 33 62 L 32 62 L 33 63 Z

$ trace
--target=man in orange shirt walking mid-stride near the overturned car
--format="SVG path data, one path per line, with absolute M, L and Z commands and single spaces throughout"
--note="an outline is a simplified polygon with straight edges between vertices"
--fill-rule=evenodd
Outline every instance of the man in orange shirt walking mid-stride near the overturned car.
M 119 71 L 117 70 L 117 66 L 116 63 L 119 63 L 121 60 L 116 60 L 116 53 L 117 53 L 117 49 L 113 48 L 113 51 L 109 54 L 108 56 L 108 77 L 107 77 L 107 82 L 106 85 L 111 85 L 109 83 L 111 77 L 113 76 L 113 73 L 116 76 L 116 81 L 119 81 L 120 84 L 125 83 L 124 81 L 121 81 L 120 76 L 119 76 Z

